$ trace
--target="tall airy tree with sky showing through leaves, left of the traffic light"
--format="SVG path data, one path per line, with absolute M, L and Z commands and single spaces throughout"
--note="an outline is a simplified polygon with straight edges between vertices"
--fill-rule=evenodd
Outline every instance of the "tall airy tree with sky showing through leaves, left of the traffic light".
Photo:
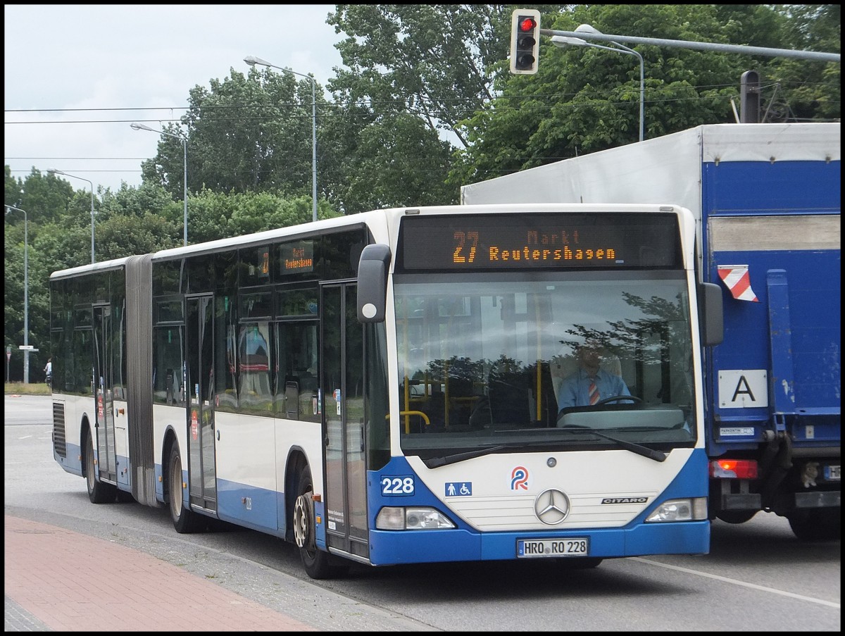
M 341 101 L 368 101 L 373 112 L 411 112 L 457 136 L 456 123 L 492 98 L 488 67 L 510 43 L 500 4 L 344 4 L 327 22 L 346 33 L 343 63 L 330 89 Z

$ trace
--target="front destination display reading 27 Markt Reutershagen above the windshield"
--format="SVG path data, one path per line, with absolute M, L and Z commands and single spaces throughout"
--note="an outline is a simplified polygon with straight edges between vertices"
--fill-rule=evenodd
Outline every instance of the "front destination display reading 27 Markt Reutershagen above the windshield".
M 405 217 L 401 269 L 679 267 L 671 213 Z

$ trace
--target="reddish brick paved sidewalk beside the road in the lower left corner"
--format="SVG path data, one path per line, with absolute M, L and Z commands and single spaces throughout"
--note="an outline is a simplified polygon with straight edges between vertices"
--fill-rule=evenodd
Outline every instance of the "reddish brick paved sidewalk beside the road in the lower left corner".
M 315 631 L 111 541 L 9 515 L 3 535 L 7 630 Z

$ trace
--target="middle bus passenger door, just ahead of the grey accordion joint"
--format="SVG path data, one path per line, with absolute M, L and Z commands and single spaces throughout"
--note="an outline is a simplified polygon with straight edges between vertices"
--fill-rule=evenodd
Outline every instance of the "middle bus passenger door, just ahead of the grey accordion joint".
M 214 425 L 214 296 L 185 299 L 188 378 L 188 500 L 217 510 Z

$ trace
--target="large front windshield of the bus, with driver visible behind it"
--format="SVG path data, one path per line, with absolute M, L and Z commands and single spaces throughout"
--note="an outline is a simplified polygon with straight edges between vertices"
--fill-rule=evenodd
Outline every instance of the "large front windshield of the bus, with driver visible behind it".
M 394 282 L 406 454 L 695 444 L 684 271 Z

